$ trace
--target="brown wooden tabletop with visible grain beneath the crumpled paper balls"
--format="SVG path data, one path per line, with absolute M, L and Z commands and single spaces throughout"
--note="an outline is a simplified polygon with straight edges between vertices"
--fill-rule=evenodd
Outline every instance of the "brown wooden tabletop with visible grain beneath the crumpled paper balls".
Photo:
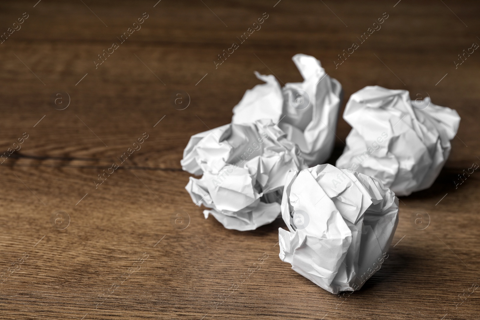
M 479 14 L 452 0 L 1 1 L 0 319 L 479 319 L 480 173 L 455 187 L 480 164 L 480 52 L 458 57 L 480 43 Z M 282 220 L 227 230 L 184 190 L 190 136 L 230 122 L 253 71 L 301 81 L 296 53 L 340 81 L 342 112 L 377 84 L 461 117 L 440 177 L 400 198 L 389 258 L 349 296 L 280 261 Z M 349 130 L 339 119 L 330 163 Z

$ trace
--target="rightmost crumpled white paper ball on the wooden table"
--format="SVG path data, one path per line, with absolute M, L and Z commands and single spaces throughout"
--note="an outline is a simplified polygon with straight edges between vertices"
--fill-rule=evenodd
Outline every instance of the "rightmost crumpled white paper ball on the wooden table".
M 350 96 L 343 119 L 352 126 L 336 166 L 380 179 L 397 196 L 430 188 L 458 130 L 455 110 L 407 90 L 367 86 Z

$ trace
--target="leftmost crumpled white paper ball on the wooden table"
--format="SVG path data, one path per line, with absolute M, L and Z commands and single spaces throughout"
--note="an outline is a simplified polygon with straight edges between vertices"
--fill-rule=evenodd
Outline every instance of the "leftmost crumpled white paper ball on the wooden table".
M 190 139 L 180 162 L 185 189 L 227 229 L 254 230 L 280 214 L 285 177 L 306 167 L 295 143 L 271 120 L 228 124 Z

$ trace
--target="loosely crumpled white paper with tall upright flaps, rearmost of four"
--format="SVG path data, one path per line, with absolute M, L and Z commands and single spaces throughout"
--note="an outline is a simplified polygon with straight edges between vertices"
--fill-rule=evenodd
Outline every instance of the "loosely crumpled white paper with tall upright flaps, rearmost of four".
M 305 163 L 314 166 L 324 163 L 332 153 L 342 86 L 314 57 L 297 54 L 292 60 L 303 82 L 280 88 L 273 75 L 255 71 L 265 83 L 245 92 L 233 108 L 232 123 L 272 119 L 300 147 Z

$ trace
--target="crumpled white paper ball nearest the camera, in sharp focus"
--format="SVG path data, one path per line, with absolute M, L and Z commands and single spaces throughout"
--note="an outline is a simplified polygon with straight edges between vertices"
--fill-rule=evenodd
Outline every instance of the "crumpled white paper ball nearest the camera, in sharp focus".
M 359 290 L 380 269 L 398 224 L 398 198 L 361 173 L 319 165 L 290 172 L 280 259 L 325 290 Z

